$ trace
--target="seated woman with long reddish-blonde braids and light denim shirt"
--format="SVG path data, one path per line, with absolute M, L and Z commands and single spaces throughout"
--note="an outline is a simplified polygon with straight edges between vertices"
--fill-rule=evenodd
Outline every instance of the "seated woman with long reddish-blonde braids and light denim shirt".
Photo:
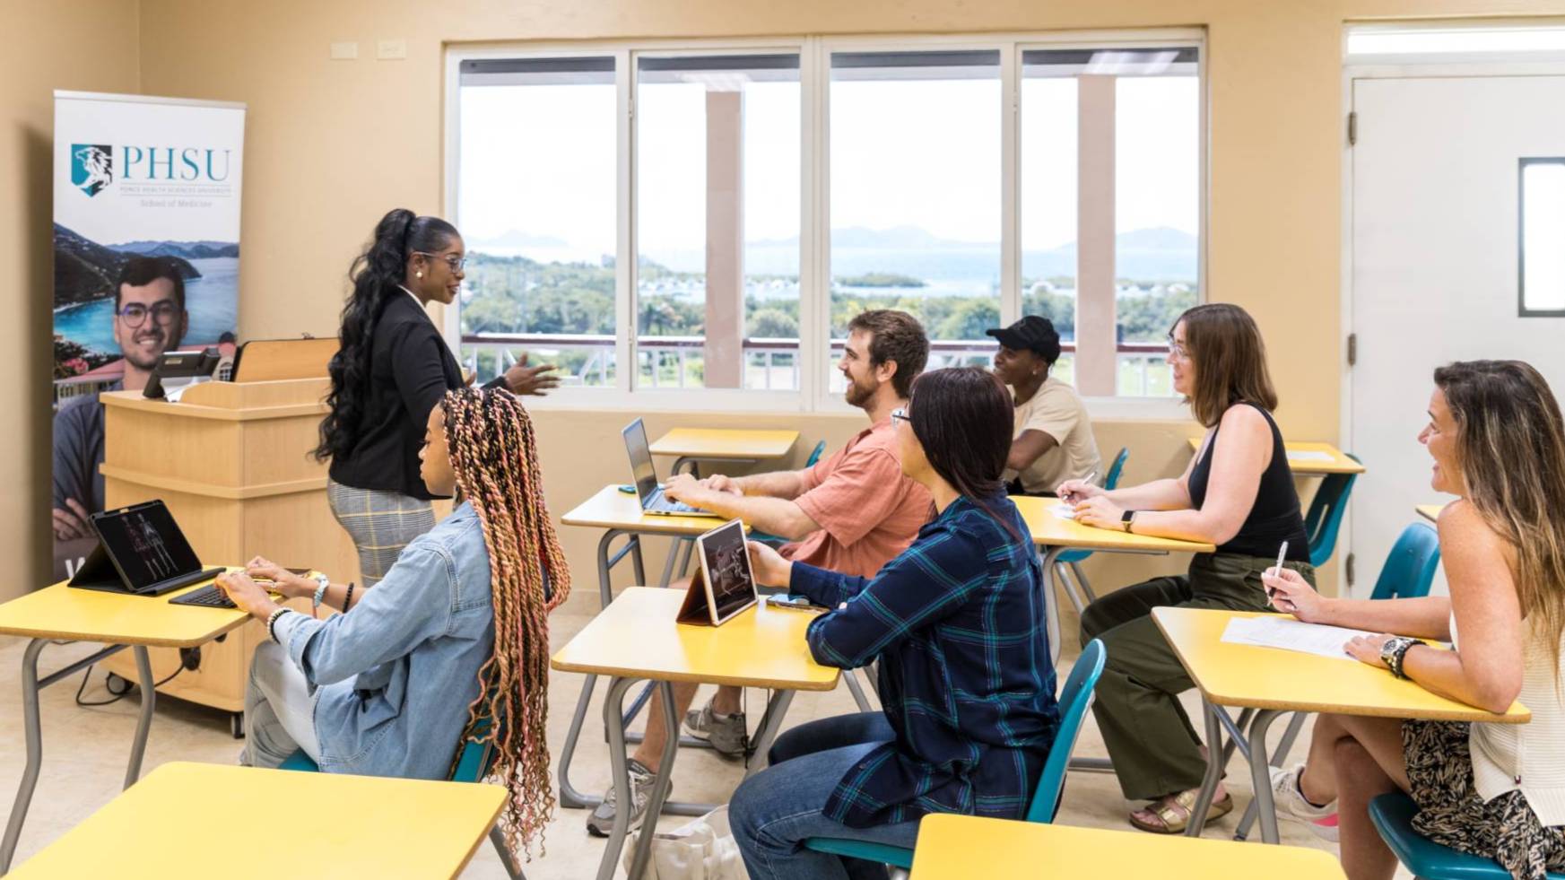
M 315 597 L 318 584 L 264 559 L 218 579 L 271 636 L 250 664 L 241 763 L 275 767 L 302 748 L 326 772 L 440 780 L 462 742 L 498 731 L 493 774 L 510 789 L 501 828 L 516 852 L 554 810 L 548 612 L 570 593 L 532 421 L 509 391 L 448 391 L 419 462 L 430 492 L 460 489 L 466 501 L 374 589 L 326 586 L 324 603 L 351 614 L 279 606 L 252 576 L 285 597 Z

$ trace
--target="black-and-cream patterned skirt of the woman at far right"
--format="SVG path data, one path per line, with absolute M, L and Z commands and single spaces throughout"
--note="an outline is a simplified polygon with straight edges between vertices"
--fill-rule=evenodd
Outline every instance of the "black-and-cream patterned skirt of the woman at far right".
M 1565 871 L 1565 825 L 1538 824 L 1520 791 L 1488 803 L 1479 797 L 1466 722 L 1402 722 L 1402 755 L 1419 835 L 1493 858 L 1515 880 L 1545 880 L 1548 871 Z

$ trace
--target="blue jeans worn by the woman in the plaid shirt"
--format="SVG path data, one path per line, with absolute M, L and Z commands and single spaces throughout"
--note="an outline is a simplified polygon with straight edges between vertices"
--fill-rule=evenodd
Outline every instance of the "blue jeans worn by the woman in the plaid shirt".
M 778 736 L 770 766 L 745 780 L 728 805 L 728 822 L 751 880 L 869 880 L 886 871 L 856 858 L 804 847 L 806 838 L 844 838 L 912 849 L 919 822 L 850 828 L 823 813 L 837 781 L 864 755 L 895 734 L 881 712 L 809 722 Z

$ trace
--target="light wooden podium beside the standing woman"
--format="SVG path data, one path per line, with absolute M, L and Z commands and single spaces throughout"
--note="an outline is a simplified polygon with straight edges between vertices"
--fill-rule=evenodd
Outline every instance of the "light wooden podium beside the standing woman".
M 102 395 L 105 504 L 161 498 L 203 565 L 243 565 L 266 556 L 279 565 L 324 572 L 336 582 L 357 581 L 354 543 L 326 500 L 326 465 L 310 456 L 327 390 L 322 376 L 203 382 L 186 388 L 178 402 L 139 391 Z M 294 604 L 308 612 L 308 600 Z M 241 712 L 250 653 L 264 637 L 266 626 L 250 622 L 222 642 L 202 645 L 200 667 L 158 691 Z M 178 662 L 175 650 L 152 650 L 160 680 Z M 125 655 L 103 665 L 136 678 Z

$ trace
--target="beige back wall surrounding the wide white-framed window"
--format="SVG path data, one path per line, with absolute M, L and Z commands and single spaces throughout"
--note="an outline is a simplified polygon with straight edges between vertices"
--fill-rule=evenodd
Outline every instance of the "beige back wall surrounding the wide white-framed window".
M 69 16 L 83 27 L 91 19 L 55 13 L 52 6 L 39 9 L 49 9 L 45 19 Z M 1562 0 L 142 0 L 141 85 L 149 94 L 249 103 L 241 330 L 246 337 L 302 330 L 326 335 L 335 332 L 347 261 L 374 221 L 394 205 L 441 210 L 446 44 L 1203 25 L 1211 89 L 1207 296 L 1243 304 L 1268 334 L 1283 429 L 1297 438 L 1332 440 L 1341 382 L 1343 22 L 1562 13 Z M 75 61 L 55 58 L 88 55 L 77 45 L 69 55 L 45 50 L 45 44 L 55 45 L 52 34 L 63 30 L 42 28 L 38 39 L 20 41 L 19 49 L 38 58 L 41 70 L 58 70 L 39 74 L 47 86 L 80 75 Z M 135 33 L 135 27 L 105 27 L 103 33 L 122 36 Z M 405 39 L 407 60 L 376 61 L 374 45 L 382 38 Z M 358 41 L 358 61 L 327 60 L 329 44 L 341 39 Z M 133 58 L 131 52 L 131 64 Z M 38 94 L 44 96 L 47 86 L 39 86 Z M 47 122 L 44 97 L 36 106 L 39 124 Z M 47 128 L 42 136 L 47 142 Z M 27 163 L 17 160 L 8 168 L 19 164 Z M 34 160 L 33 168 L 41 169 L 36 175 L 47 174 L 45 164 Z M 47 189 L 38 193 L 38 200 L 47 204 Z M 28 210 L 36 218 L 31 227 L 47 229 L 47 207 L 31 204 Z M 33 238 L 41 246 L 45 236 Z M 39 302 L 47 298 L 45 276 L 23 272 L 16 282 Z M 30 357 L 38 354 L 39 363 L 41 352 L 25 346 L 44 337 L 42 321 L 34 315 L 36 326 L 6 330 L 25 335 L 20 349 Z M 41 398 L 41 391 L 34 396 Z M 36 445 L 42 415 L 36 406 L 28 412 L 28 437 Z M 610 429 L 621 420 L 576 412 L 540 417 L 557 512 L 588 489 L 618 478 L 613 468 L 621 453 Z M 675 421 L 654 418 L 651 429 Z M 825 435 L 840 442 L 851 424 L 839 421 L 804 418 L 806 440 Z M 1188 456 L 1182 448 L 1185 434 L 1186 426 L 1155 423 L 1099 429 L 1105 453 L 1131 446 L 1131 479 L 1180 467 Z M 581 437 L 595 440 L 584 443 Z M 603 462 L 613 465 L 604 470 Z M 11 467 L 44 473 L 36 463 L 30 454 Z M 42 498 L 42 478 L 19 473 L 14 485 L 25 487 L 28 498 Z M 42 546 L 41 536 L 8 540 L 27 543 L 33 556 Z M 593 579 L 590 548 L 585 536 L 571 539 L 571 559 L 584 586 Z M 1142 561 L 1113 565 L 1103 568 L 1105 582 L 1153 570 Z

